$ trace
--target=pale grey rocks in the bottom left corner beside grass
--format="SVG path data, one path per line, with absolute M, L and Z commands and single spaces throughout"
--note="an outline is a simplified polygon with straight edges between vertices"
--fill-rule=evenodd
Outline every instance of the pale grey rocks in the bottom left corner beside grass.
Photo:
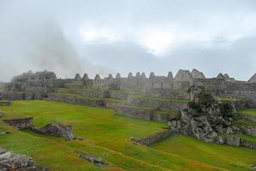
M 16 154 L 0 147 L 0 170 L 1 171 L 46 171 L 46 168 L 39 168 L 33 159 L 26 155 Z

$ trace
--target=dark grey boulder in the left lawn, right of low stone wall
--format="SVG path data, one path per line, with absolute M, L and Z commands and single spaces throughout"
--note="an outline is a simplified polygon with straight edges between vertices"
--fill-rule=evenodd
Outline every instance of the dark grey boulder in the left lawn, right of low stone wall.
M 35 129 L 35 131 L 37 133 L 43 133 L 43 134 L 51 135 L 54 137 L 63 137 L 67 140 L 75 139 L 75 137 L 72 133 L 71 126 L 63 126 L 62 124 L 58 124 L 58 123 L 50 123 L 50 124 L 46 125 L 45 127 Z

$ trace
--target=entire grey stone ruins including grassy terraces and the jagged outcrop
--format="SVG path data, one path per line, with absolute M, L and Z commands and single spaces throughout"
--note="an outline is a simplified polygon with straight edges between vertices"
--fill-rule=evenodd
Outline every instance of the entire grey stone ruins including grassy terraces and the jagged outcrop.
M 213 105 L 204 109 L 204 115 L 194 115 L 193 109 L 188 108 L 191 100 L 197 102 L 195 96 L 204 87 L 204 91 L 215 98 L 225 97 L 230 100 L 232 109 L 256 107 L 256 74 L 248 81 L 239 81 L 228 74 L 218 74 L 216 78 L 205 78 L 205 75 L 193 69 L 180 69 L 176 76 L 171 72 L 167 76 L 137 72 L 122 77 L 109 74 L 101 78 L 96 74 L 90 79 L 87 74 L 76 74 L 74 79 L 57 79 L 53 72 L 43 71 L 21 74 L 4 85 L 0 91 L 0 100 L 46 99 L 65 103 L 85 104 L 95 107 L 115 109 L 116 115 L 127 115 L 148 121 L 171 123 L 162 133 L 157 133 L 145 139 L 131 140 L 136 144 L 152 144 L 164 139 L 172 133 L 192 135 L 206 142 L 231 144 L 256 148 L 243 139 L 234 137 L 219 137 L 217 133 L 245 133 L 255 136 L 255 127 L 233 125 L 233 117 L 223 118 L 220 106 Z M 173 115 L 176 113 L 178 115 Z M 249 117 L 249 116 L 248 116 Z M 244 118 L 256 121 L 254 116 Z M 215 121 L 222 121 L 216 124 Z M 51 127 L 55 129 L 55 127 Z M 48 127 L 45 128 L 46 132 Z M 68 129 L 69 130 L 69 129 Z M 74 139 L 74 137 L 72 137 Z

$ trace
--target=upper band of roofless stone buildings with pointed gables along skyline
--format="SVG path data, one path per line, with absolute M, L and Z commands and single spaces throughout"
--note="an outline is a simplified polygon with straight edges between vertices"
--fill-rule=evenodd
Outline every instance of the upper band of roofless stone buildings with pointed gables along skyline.
M 143 91 L 152 97 L 189 98 L 188 89 L 191 85 L 203 85 L 215 96 L 242 97 L 248 103 L 256 105 L 256 74 L 248 81 L 230 78 L 228 74 L 218 74 L 216 78 L 205 78 L 202 72 L 193 69 L 180 69 L 174 77 L 171 72 L 167 76 L 158 76 L 153 72 L 148 78 L 146 74 L 137 72 L 128 77 L 110 74 L 101 78 L 98 74 L 90 79 L 76 74 L 74 79 L 57 79 L 53 72 L 43 71 L 33 74 L 21 74 L 6 84 L 5 91 L 0 93 L 0 99 L 42 99 L 57 88 L 66 89 L 98 89 L 98 90 L 135 90 Z M 20 92 L 20 93 L 19 93 Z M 21 93 L 26 92 L 26 93 Z

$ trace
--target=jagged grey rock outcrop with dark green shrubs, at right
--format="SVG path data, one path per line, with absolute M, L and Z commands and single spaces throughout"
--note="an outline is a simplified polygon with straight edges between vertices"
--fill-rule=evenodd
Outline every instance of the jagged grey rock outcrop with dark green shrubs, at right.
M 244 133 L 248 128 L 233 124 L 232 121 L 237 117 L 233 103 L 218 103 L 201 87 L 194 89 L 200 92 L 193 93 L 196 96 L 193 97 L 193 101 L 180 110 L 180 115 L 170 121 L 170 130 L 173 133 L 190 135 L 205 142 L 255 149 L 256 144 L 233 136 L 235 133 Z M 254 132 L 255 127 L 247 129 L 247 134 L 254 136 Z

